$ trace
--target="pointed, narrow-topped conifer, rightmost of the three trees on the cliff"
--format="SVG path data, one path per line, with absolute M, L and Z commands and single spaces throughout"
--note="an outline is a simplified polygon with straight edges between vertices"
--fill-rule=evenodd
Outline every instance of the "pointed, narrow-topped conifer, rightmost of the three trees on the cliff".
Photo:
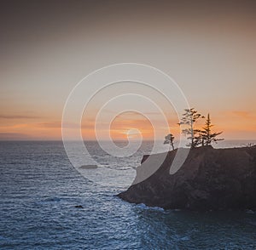
M 222 134 L 222 132 L 212 133 L 212 129 L 211 129 L 212 126 L 213 125 L 211 122 L 210 114 L 208 114 L 205 127 L 202 128 L 202 130 L 200 132 L 201 145 L 212 145 L 212 142 L 217 143 L 218 140 L 224 140 L 224 139 L 216 138 L 219 134 Z

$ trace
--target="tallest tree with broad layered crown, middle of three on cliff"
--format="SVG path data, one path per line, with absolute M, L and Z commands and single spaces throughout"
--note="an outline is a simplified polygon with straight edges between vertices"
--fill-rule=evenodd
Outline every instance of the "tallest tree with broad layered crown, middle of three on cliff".
M 200 133 L 200 130 L 195 129 L 195 122 L 200 118 L 205 118 L 195 111 L 195 108 L 185 109 L 185 113 L 183 113 L 183 117 L 181 121 L 178 123 L 179 125 L 188 125 L 189 128 L 184 128 L 182 130 L 183 134 L 188 135 L 188 139 L 190 139 L 189 146 L 195 147 L 199 145 L 200 140 L 195 136 Z

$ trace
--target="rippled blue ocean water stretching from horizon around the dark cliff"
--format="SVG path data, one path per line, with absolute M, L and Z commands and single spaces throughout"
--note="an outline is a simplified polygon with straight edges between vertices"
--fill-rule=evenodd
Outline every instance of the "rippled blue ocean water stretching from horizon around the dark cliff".
M 164 211 L 116 197 L 147 143 L 125 159 L 90 149 L 120 168 L 123 185 L 85 178 L 62 142 L 0 142 L 0 249 L 256 249 L 256 213 Z

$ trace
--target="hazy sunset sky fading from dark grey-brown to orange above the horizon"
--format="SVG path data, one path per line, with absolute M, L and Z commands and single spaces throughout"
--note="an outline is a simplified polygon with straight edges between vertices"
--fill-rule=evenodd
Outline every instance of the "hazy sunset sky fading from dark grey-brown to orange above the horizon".
M 151 65 L 172 77 L 191 107 L 210 112 L 225 139 L 256 139 L 255 1 L 0 4 L 0 139 L 61 139 L 62 111 L 76 84 L 91 71 L 124 62 Z M 148 89 L 144 94 L 152 96 Z M 85 139 L 96 139 L 101 99 L 82 119 Z M 141 101 L 132 99 L 137 106 Z M 165 100 L 156 101 L 177 136 L 177 114 Z M 145 114 L 156 122 L 159 114 L 144 106 L 142 114 L 115 114 L 109 130 L 100 126 L 101 139 L 108 133 L 113 139 L 137 137 L 135 129 L 144 139 L 153 139 L 154 129 L 164 136 L 169 128 L 153 129 Z M 110 105 L 104 114 L 115 112 Z

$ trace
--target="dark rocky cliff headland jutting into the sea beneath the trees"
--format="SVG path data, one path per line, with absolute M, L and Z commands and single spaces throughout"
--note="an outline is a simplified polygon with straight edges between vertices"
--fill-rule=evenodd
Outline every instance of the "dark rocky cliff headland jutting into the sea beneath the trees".
M 175 154 L 170 151 L 153 175 L 118 196 L 166 209 L 256 210 L 256 147 L 195 148 L 182 168 L 171 175 Z M 147 157 L 143 156 L 143 161 Z M 137 172 L 143 171 L 140 168 Z

